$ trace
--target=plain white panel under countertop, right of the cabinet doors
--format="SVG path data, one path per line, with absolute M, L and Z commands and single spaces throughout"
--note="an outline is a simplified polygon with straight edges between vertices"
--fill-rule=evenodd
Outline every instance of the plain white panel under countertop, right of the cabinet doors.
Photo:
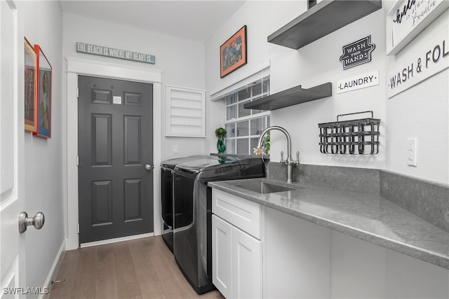
M 265 209 L 264 298 L 449 298 L 449 270 Z

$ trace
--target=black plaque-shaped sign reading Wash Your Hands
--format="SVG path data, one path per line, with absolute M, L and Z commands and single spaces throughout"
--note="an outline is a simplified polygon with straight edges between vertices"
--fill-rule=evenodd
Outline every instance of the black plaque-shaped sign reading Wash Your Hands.
M 371 36 L 366 36 L 363 39 L 349 43 L 343 47 L 343 55 L 340 56 L 340 61 L 343 62 L 343 69 L 356 67 L 371 61 L 371 52 L 376 48 L 374 43 L 371 43 Z

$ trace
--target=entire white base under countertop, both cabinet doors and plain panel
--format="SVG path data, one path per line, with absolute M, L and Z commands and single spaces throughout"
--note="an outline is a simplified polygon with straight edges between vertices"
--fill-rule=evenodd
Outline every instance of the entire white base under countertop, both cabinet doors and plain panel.
M 449 298 L 447 269 L 220 190 L 212 197 L 213 284 L 226 298 Z

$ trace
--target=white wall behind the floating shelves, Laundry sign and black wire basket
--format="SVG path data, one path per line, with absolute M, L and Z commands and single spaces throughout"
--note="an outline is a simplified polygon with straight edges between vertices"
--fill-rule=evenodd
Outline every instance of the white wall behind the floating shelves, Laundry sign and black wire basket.
M 332 97 L 272 112 L 272 124 L 281 125 L 290 132 L 293 139 L 293 151 L 300 151 L 302 163 L 368 168 L 385 167 L 386 139 L 384 132 L 387 127 L 387 119 L 384 111 L 386 97 L 384 32 L 384 13 L 379 10 L 299 50 L 289 49 L 287 53 L 273 59 L 272 92 L 279 92 L 298 84 L 304 88 L 310 88 L 321 83 L 333 83 Z M 371 53 L 372 61 L 343 70 L 340 62 L 340 56 L 343 54 L 342 47 L 369 35 L 371 43 L 376 46 Z M 280 46 L 278 47 L 280 48 Z M 273 50 L 277 51 L 278 49 L 273 48 Z M 379 85 L 337 95 L 337 81 L 376 70 L 379 70 L 380 73 Z M 320 153 L 318 124 L 333 122 L 337 120 L 339 114 L 360 111 L 373 111 L 374 117 L 381 119 L 380 153 L 378 155 L 325 155 Z M 281 149 L 273 142 L 274 160 L 278 159 Z

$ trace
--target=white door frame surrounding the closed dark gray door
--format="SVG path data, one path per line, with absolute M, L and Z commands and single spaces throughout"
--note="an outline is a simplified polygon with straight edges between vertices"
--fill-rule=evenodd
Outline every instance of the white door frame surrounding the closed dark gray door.
M 65 219 L 67 223 L 67 247 L 66 250 L 76 249 L 79 246 L 78 239 L 78 167 L 76 157 L 78 155 L 78 75 L 95 76 L 102 78 L 121 79 L 142 83 L 153 84 L 153 162 L 154 165 L 161 164 L 161 90 L 162 71 L 156 69 L 146 69 L 143 67 L 132 67 L 125 64 L 115 64 L 109 62 L 99 62 L 95 60 L 84 60 L 76 57 L 67 57 L 67 102 L 62 113 L 67 113 L 65 129 L 67 132 L 63 137 L 63 157 L 65 160 Z M 156 167 L 159 169 L 159 167 Z M 154 171 L 153 196 L 154 196 L 154 235 L 161 234 L 160 203 L 160 178 L 161 174 Z

